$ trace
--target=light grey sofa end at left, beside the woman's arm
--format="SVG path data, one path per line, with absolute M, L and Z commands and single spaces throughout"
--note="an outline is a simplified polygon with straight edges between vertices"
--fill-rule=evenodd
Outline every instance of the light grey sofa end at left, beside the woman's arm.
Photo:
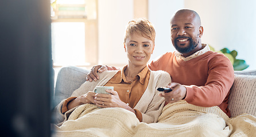
M 73 91 L 86 82 L 88 70 L 76 66 L 62 67 L 57 75 L 54 105 L 71 96 Z

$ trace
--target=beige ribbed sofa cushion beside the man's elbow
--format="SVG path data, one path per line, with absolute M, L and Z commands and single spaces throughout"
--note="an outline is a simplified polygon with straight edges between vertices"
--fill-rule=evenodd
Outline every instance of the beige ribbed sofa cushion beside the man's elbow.
M 231 117 L 243 113 L 256 116 L 256 76 L 235 74 L 228 108 Z

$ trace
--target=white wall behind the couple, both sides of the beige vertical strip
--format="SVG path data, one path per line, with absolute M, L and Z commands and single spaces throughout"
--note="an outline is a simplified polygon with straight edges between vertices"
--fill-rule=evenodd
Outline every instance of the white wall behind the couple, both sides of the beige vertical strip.
M 170 41 L 170 18 L 179 9 L 197 11 L 204 26 L 203 42 L 215 50 L 238 51 L 238 59 L 256 69 L 256 1 L 253 0 L 149 0 L 149 21 L 156 29 L 152 59 L 174 51 Z M 99 0 L 99 59 L 104 65 L 126 64 L 123 34 L 133 19 L 133 0 Z

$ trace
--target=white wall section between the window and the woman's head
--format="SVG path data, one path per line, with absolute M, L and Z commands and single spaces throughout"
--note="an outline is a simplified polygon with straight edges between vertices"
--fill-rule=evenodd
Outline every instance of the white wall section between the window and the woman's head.
M 126 25 L 133 19 L 133 0 L 99 0 L 99 64 L 126 65 Z

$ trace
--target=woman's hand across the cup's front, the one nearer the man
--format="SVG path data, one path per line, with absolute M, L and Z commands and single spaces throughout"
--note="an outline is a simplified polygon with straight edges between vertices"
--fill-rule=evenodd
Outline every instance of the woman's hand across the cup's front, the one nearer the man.
M 122 102 L 120 100 L 117 91 L 108 89 L 108 90 L 106 90 L 106 92 L 109 92 L 110 94 L 96 94 L 95 95 L 94 103 L 98 107 L 121 107 L 121 108 L 125 108 L 126 110 L 129 110 L 129 111 L 135 113 L 133 108 L 131 108 L 125 102 Z

